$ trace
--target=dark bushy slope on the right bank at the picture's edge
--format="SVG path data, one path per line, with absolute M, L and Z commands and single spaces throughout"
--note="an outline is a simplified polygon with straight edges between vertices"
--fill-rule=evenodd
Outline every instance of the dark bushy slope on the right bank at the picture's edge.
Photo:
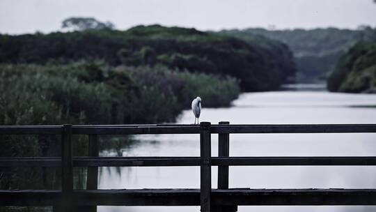
M 376 92 L 376 43 L 357 43 L 343 55 L 327 87 L 329 91 Z

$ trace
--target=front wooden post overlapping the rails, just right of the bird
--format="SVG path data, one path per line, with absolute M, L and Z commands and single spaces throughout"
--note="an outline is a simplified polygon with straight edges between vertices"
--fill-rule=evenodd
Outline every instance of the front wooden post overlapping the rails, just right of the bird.
M 212 192 L 211 136 L 210 122 L 200 123 L 200 204 L 201 212 L 210 212 Z

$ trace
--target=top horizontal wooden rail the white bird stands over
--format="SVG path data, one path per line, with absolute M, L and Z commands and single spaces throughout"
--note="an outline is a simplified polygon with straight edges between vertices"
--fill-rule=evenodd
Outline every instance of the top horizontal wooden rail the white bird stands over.
M 0 126 L 0 135 L 61 134 L 62 126 Z M 265 124 L 211 125 L 210 132 L 218 133 L 372 133 L 376 124 Z M 73 135 L 141 135 L 141 134 L 198 134 L 195 125 L 73 125 Z

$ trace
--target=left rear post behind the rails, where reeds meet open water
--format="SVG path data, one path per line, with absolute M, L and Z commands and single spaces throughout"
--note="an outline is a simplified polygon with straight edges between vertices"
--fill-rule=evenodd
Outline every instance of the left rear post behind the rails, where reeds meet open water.
M 88 156 L 99 156 L 98 135 L 88 135 Z M 88 176 L 86 180 L 87 190 L 97 190 L 98 188 L 98 167 L 88 167 Z M 96 212 L 97 206 L 88 206 L 85 211 Z

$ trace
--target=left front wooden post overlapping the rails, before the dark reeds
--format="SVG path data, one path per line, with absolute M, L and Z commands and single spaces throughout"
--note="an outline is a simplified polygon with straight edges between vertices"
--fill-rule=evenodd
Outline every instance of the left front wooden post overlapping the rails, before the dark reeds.
M 61 211 L 73 211 L 72 125 L 64 124 L 61 133 Z

